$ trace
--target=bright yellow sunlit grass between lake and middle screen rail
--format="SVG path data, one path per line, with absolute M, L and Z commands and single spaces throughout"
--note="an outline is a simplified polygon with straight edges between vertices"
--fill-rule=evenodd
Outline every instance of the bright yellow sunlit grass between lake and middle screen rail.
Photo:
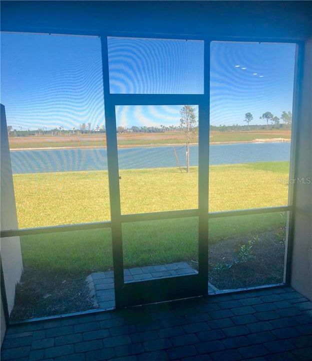
M 210 166 L 209 211 L 287 203 L 288 162 Z M 197 168 L 120 170 L 123 214 L 197 208 Z M 107 171 L 15 174 L 19 228 L 110 220 Z

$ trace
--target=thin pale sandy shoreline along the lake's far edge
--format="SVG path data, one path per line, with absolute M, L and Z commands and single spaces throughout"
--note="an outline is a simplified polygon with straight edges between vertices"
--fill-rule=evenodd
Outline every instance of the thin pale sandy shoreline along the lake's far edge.
M 289 138 L 259 138 L 252 140 L 237 140 L 237 141 L 210 141 L 211 145 L 217 144 L 243 144 L 243 143 L 276 143 L 276 142 L 290 142 Z M 163 144 L 126 144 L 118 145 L 118 148 L 150 148 L 161 146 L 183 146 L 183 143 L 163 143 Z M 190 145 L 198 145 L 198 143 L 191 143 Z M 106 149 L 105 145 L 81 145 L 81 146 L 63 146 L 63 147 L 31 147 L 31 148 L 10 148 L 10 151 L 20 150 L 53 150 L 53 149 Z

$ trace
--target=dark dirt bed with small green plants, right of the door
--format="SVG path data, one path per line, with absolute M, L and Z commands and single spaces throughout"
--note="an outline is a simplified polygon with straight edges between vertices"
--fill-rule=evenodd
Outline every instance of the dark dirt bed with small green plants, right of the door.
M 252 237 L 209 245 L 209 282 L 219 290 L 283 282 L 285 246 L 280 239 L 282 231 L 259 234 L 250 257 L 242 263 L 239 263 L 239 247 L 247 245 Z

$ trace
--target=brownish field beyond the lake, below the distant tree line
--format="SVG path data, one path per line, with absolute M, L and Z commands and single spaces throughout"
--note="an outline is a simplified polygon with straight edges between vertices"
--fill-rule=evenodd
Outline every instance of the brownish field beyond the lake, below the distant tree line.
M 290 130 L 257 129 L 244 131 L 210 132 L 210 143 L 253 141 L 254 139 L 285 138 L 290 139 Z M 184 132 L 164 133 L 128 133 L 117 134 L 118 146 L 184 144 Z M 194 138 L 193 142 L 197 140 Z M 105 134 L 76 135 L 37 135 L 9 137 L 10 148 L 45 148 L 45 147 L 105 147 Z

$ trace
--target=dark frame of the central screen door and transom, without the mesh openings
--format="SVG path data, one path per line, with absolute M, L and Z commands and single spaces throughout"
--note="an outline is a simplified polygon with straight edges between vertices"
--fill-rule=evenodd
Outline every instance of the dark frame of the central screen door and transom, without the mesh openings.
M 203 94 L 111 94 L 109 92 L 108 37 L 159 39 L 139 34 L 105 34 L 101 36 L 103 90 L 107 141 L 107 165 L 111 210 L 111 236 L 116 308 L 207 294 L 208 289 L 208 167 L 209 167 L 209 75 L 210 41 L 203 38 L 160 37 L 167 40 L 203 41 Z M 198 208 L 122 215 L 120 209 L 119 168 L 117 154 L 117 105 L 198 105 Z M 123 278 L 122 223 L 148 220 L 198 218 L 198 273 L 185 276 L 125 283 Z

